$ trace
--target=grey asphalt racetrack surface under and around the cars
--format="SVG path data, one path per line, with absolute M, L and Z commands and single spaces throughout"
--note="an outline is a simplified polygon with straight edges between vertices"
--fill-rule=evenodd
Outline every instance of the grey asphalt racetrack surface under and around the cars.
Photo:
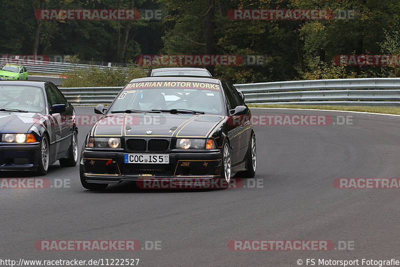
M 94 115 L 93 107 L 75 107 Z M 79 167 L 51 165 L 46 189 L 0 189 L 1 259 L 139 258 L 139 266 L 302 266 L 306 259 L 400 260 L 399 189 L 341 189 L 337 178 L 399 178 L 400 117 L 251 109 L 253 116 L 318 115 L 330 125 L 256 125 L 255 180 L 226 190 L 148 190 L 132 182 L 85 190 Z M 347 123 L 342 122 L 347 119 Z M 79 125 L 79 151 L 89 125 Z M 259 188 L 253 188 L 258 181 Z M 60 188 L 55 188 L 60 187 Z M 39 240 L 138 240 L 136 251 L 41 251 Z M 232 251 L 230 240 L 330 240 L 329 251 Z M 159 250 L 145 243 L 160 241 Z M 158 242 L 159 244 L 159 242 Z M 343 248 L 346 244 L 349 247 Z M 104 261 L 103 261 L 104 262 Z M 105 262 L 104 262 L 105 263 Z

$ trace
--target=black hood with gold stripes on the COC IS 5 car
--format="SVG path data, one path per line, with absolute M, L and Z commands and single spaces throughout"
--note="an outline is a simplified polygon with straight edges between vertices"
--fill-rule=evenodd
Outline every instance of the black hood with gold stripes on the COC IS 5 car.
M 225 117 L 186 114 L 109 114 L 95 123 L 91 136 L 208 137 Z

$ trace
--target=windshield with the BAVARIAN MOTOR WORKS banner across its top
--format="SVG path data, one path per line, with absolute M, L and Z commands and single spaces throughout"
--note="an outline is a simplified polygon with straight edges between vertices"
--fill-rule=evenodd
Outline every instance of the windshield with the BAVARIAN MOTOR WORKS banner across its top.
M 165 85 L 165 87 L 164 87 Z M 187 109 L 223 115 L 218 84 L 199 82 L 136 82 L 127 84 L 108 112 Z

